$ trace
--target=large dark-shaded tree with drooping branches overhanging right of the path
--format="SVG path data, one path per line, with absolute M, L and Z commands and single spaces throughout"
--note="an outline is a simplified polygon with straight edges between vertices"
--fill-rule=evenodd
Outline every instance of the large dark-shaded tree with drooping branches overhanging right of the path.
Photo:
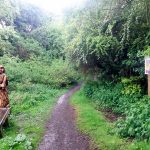
M 143 76 L 143 56 L 150 44 L 149 6 L 148 0 L 88 0 L 66 18 L 68 55 L 105 77 Z

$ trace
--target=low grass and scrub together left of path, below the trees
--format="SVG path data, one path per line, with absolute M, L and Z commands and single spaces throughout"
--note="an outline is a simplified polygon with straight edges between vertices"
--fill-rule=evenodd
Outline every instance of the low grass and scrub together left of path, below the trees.
M 4 128 L 0 150 L 36 149 L 56 100 L 79 76 L 63 59 L 22 61 L 5 55 L 0 64 L 8 76 L 11 106 L 10 125 Z

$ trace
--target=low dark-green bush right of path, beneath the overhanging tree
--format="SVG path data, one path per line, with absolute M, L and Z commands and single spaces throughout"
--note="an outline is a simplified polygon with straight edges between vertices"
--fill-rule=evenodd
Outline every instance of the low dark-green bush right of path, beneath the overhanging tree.
M 139 95 L 124 94 L 121 83 L 87 82 L 83 87 L 86 96 L 90 97 L 99 109 L 111 109 L 115 113 L 125 113 L 130 105 L 138 101 Z

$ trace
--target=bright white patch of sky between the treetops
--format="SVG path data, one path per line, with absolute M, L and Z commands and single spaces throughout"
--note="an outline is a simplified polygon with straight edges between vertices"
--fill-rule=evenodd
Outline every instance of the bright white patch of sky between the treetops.
M 22 0 L 34 4 L 48 12 L 55 15 L 62 15 L 67 8 L 78 7 L 82 5 L 85 0 Z

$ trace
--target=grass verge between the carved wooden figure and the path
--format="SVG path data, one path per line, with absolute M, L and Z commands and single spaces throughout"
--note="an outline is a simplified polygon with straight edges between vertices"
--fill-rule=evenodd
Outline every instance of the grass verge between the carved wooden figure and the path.
M 17 85 L 10 93 L 10 127 L 0 139 L 0 150 L 36 149 L 43 137 L 44 126 L 63 89 L 51 89 L 44 84 Z

